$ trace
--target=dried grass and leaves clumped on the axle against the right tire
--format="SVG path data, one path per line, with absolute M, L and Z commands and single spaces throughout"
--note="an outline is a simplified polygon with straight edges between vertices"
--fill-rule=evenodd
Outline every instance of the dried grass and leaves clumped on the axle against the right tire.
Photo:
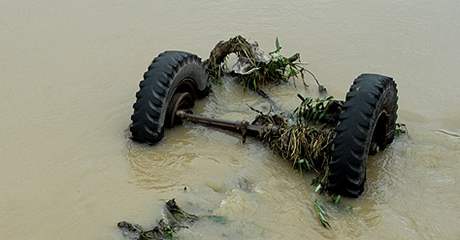
M 301 172 L 315 171 L 316 181 L 325 185 L 342 102 L 332 97 L 299 98 L 290 118 L 259 112 L 253 124 L 266 126 L 261 138 L 271 149 Z

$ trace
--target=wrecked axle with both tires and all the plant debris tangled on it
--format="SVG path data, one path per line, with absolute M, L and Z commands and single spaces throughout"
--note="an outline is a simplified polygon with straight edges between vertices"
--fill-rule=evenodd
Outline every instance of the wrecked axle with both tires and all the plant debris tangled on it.
M 265 54 L 256 42 L 236 36 L 219 42 L 204 62 L 187 52 L 161 53 L 139 84 L 131 116 L 132 139 L 155 144 L 163 138 L 165 128 L 184 121 L 239 133 L 243 142 L 246 136 L 256 137 L 291 161 L 294 167 L 318 173 L 315 182 L 322 191 L 335 196 L 359 197 L 366 181 L 368 155 L 385 149 L 402 131 L 396 123 L 395 82 L 379 74 L 361 74 L 353 81 L 345 100 L 335 100 L 327 96 L 326 88 L 315 75 L 303 67 L 300 54 L 283 56 L 278 39 L 275 47 Z M 230 55 L 237 58 L 231 67 L 226 64 Z M 258 116 L 251 122 L 193 113 L 195 100 L 206 97 L 212 85 L 222 81 L 224 75 L 233 77 L 275 106 L 263 87 L 295 78 L 303 80 L 304 73 L 315 79 L 322 97 L 312 99 L 298 95 L 301 103 L 293 112 L 262 113 L 252 109 Z M 127 223 L 119 227 L 124 231 L 136 229 Z M 157 230 L 164 232 L 165 227 L 167 230 L 178 228 L 160 222 Z M 155 229 L 148 233 L 155 233 Z

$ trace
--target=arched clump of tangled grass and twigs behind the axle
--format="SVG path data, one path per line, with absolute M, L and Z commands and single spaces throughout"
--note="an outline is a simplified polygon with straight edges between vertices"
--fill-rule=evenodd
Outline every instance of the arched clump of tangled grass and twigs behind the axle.
M 278 38 L 275 41 L 275 50 L 265 54 L 257 42 L 250 43 L 244 37 L 236 36 L 217 43 L 205 64 L 214 83 L 221 81 L 224 74 L 230 74 L 245 88 L 257 92 L 268 84 L 279 84 L 290 80 L 295 84 L 295 79 L 302 79 L 303 84 L 307 86 L 304 80 L 304 74 L 307 72 L 315 79 L 322 91 L 326 90 L 319 84 L 315 75 L 304 68 L 299 53 L 286 57 L 281 54 L 281 50 Z M 231 69 L 228 69 L 225 61 L 231 54 L 235 54 L 238 60 Z

